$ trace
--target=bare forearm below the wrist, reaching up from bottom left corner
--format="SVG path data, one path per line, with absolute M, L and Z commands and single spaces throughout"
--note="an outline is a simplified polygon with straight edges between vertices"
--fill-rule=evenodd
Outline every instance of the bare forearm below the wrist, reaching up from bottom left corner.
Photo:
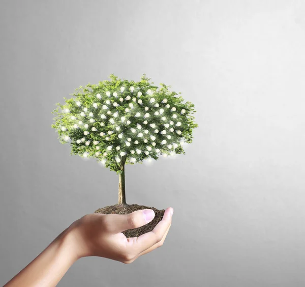
M 56 286 L 77 260 L 75 254 L 74 242 L 66 229 L 4 287 Z

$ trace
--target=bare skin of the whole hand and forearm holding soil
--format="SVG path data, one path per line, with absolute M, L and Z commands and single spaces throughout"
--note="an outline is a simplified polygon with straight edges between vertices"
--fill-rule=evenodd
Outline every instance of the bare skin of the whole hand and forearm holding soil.
M 145 212 L 150 212 L 151 216 L 145 215 Z M 173 209 L 167 208 L 153 231 L 134 238 L 126 238 L 121 232 L 153 220 L 153 210 L 138 210 L 126 215 L 87 214 L 59 234 L 4 287 L 56 286 L 68 269 L 86 256 L 99 256 L 130 264 L 139 256 L 163 245 L 171 226 L 172 213 Z

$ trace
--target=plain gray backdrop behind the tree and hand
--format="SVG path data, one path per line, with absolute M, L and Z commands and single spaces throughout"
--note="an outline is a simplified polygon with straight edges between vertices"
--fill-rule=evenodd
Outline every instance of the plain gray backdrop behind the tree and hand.
M 0 284 L 117 176 L 70 156 L 51 110 L 110 73 L 143 73 L 197 108 L 186 155 L 127 167 L 127 202 L 172 206 L 162 248 L 81 259 L 59 286 L 303 286 L 302 1 L 1 1 Z

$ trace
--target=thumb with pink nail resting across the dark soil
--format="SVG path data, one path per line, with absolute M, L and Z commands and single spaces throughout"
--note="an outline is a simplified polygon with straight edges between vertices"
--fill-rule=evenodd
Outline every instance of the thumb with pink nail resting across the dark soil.
M 107 231 L 110 233 L 119 233 L 149 223 L 154 219 L 155 212 L 151 209 L 143 209 L 130 214 L 108 214 L 106 216 Z

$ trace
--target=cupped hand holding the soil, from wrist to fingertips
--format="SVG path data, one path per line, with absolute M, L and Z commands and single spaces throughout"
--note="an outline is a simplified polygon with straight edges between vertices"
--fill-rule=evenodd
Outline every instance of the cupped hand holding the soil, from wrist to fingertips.
M 155 217 L 153 210 L 138 210 L 126 215 L 87 214 L 69 227 L 77 259 L 100 256 L 130 264 L 163 245 L 171 226 L 172 213 L 173 209 L 167 208 L 153 231 L 133 238 L 126 238 L 121 232 L 149 223 Z

